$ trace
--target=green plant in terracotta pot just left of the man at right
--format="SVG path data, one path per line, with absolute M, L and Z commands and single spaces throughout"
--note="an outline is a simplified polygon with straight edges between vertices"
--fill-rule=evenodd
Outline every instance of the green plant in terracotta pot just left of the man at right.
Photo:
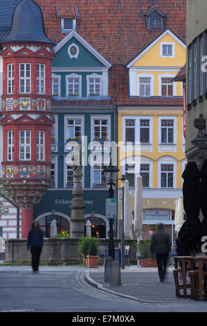
M 150 240 L 141 240 L 137 245 L 141 267 L 156 267 L 156 259 L 150 252 Z

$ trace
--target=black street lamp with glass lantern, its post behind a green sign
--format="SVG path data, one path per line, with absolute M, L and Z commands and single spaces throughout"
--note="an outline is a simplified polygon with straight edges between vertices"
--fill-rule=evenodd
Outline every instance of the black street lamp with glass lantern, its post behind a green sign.
M 105 173 L 109 198 L 114 198 L 114 191 L 119 170 L 116 166 L 112 166 L 110 162 L 109 166 L 103 168 L 103 171 Z M 112 257 L 114 259 L 113 218 L 109 218 L 109 257 Z

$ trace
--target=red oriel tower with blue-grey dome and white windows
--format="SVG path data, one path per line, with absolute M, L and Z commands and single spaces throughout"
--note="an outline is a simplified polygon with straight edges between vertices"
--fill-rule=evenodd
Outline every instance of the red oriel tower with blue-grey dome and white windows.
M 51 60 L 53 42 L 44 31 L 42 11 L 33 0 L 21 1 L 1 41 L 3 58 L 3 185 L 22 209 L 21 238 L 33 221 L 50 180 Z

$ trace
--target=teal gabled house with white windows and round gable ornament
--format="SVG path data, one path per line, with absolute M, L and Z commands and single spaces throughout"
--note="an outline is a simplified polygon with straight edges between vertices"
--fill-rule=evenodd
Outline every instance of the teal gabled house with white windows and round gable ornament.
M 110 63 L 74 30 L 55 46 L 51 80 L 55 116 L 51 148 L 53 186 L 34 208 L 34 218 L 45 227 L 46 236 L 54 215 L 59 230 L 70 228 L 73 170 L 66 164 L 66 155 L 72 149 L 67 145 L 69 141 L 87 139 L 88 156 L 93 149 L 91 141 L 98 141 L 102 148 L 116 141 L 116 108 L 108 94 L 110 68 Z M 82 173 L 86 221 L 91 221 L 93 236 L 106 238 L 108 194 L 102 164 L 86 164 Z

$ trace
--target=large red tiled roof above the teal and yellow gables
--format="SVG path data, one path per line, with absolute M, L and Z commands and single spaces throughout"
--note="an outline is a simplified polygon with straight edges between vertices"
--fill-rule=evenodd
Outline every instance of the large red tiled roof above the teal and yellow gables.
M 145 13 L 156 6 L 165 14 L 165 28 L 186 42 L 186 0 L 36 0 L 42 8 L 46 33 L 55 43 L 61 33 L 57 8 L 78 7 L 77 32 L 112 67 L 109 69 L 109 96 L 120 105 L 182 105 L 179 98 L 129 98 L 126 66 L 163 31 L 147 30 Z M 74 103 L 74 101 L 73 101 Z M 87 102 L 89 103 L 89 102 Z M 93 102 L 95 103 L 95 102 Z M 80 104 L 80 102 L 79 102 Z

